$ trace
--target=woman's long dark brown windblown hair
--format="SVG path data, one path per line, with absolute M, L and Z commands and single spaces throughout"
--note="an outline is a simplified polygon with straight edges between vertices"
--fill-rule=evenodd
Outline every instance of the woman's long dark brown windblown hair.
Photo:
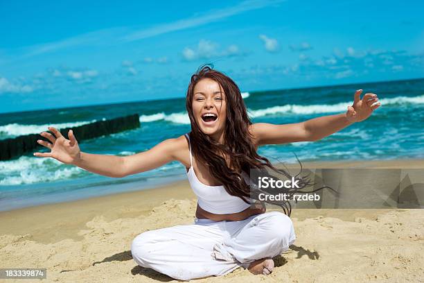
M 222 87 L 226 97 L 227 121 L 225 122 L 223 144 L 204 134 L 193 116 L 194 88 L 203 78 L 215 80 Z M 191 76 L 191 82 L 187 89 L 186 108 L 191 122 L 189 135 L 193 155 L 206 168 L 209 168 L 213 178 L 219 180 L 231 196 L 238 196 L 246 203 L 249 203 L 247 198 L 258 199 L 258 191 L 256 191 L 256 194 L 252 194 L 251 186 L 247 185 L 247 182 L 242 178 L 242 171 L 249 175 L 250 169 L 272 169 L 275 172 L 282 173 L 287 178 L 292 177 L 282 169 L 276 169 L 266 157 L 262 157 L 256 152 L 253 136 L 249 132 L 249 126 L 252 123 L 247 115 L 245 103 L 240 89 L 229 76 L 212 69 L 208 65 L 200 66 L 197 72 Z M 229 157 L 229 164 L 223 156 Z M 301 189 L 313 185 L 308 178 L 297 178 L 298 175 L 294 177 L 295 180 L 299 180 L 300 189 L 288 189 L 284 191 L 285 193 L 305 194 L 306 192 L 301 191 Z M 308 191 L 308 193 L 310 192 Z M 292 210 L 290 202 L 266 202 L 279 205 L 283 208 L 284 213 L 290 216 Z

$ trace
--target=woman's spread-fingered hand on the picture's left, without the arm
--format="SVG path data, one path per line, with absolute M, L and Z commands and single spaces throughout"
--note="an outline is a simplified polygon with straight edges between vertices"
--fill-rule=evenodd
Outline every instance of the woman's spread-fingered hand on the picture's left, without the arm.
M 49 148 L 51 152 L 49 153 L 34 153 L 37 157 L 53 157 L 55 160 L 66 164 L 73 164 L 80 158 L 80 146 L 78 146 L 78 141 L 73 135 L 72 130 L 69 130 L 68 136 L 69 139 L 65 139 L 60 131 L 53 127 L 48 127 L 48 130 L 51 130 L 54 135 L 51 135 L 48 132 L 42 132 L 40 135 L 45 137 L 48 141 L 42 141 L 41 139 L 37 140 L 38 144 Z

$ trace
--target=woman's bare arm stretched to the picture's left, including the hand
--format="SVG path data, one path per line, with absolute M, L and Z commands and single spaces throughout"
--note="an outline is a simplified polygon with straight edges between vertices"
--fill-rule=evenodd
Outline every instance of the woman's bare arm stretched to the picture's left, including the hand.
M 126 175 L 149 171 L 162 166 L 173 160 L 180 160 L 180 147 L 184 146 L 182 139 L 166 139 L 157 144 L 148 151 L 143 151 L 135 155 L 116 156 L 116 155 L 100 155 L 83 153 L 80 151 L 78 141 L 73 135 L 72 130 L 69 131 L 69 139 L 65 139 L 62 134 L 55 128 L 49 127 L 53 135 L 48 132 L 42 132 L 42 136 L 47 141 L 38 141 L 42 146 L 50 148 L 50 153 L 34 153 L 38 157 L 53 157 L 60 162 L 73 164 L 87 171 L 106 175 L 113 178 L 121 178 Z

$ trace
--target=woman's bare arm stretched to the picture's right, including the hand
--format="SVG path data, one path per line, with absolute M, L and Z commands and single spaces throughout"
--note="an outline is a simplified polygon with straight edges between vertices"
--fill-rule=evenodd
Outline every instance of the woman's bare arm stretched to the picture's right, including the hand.
M 296 141 L 316 141 L 327 137 L 355 122 L 364 121 L 381 103 L 376 94 L 365 94 L 361 99 L 362 89 L 355 92 L 352 106 L 346 113 L 317 117 L 301 123 L 274 125 L 255 123 L 252 125 L 256 144 L 285 144 Z

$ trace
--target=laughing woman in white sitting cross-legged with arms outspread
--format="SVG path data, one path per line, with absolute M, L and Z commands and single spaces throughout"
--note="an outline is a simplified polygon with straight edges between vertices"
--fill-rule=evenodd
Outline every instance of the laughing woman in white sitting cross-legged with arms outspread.
M 363 121 L 380 106 L 375 94 L 355 92 L 344 114 L 318 117 L 301 123 L 251 123 L 240 89 L 228 76 L 204 66 L 188 85 L 186 108 L 191 132 L 167 139 L 148 151 L 118 157 L 83 153 L 69 130 L 69 140 L 55 128 L 42 132 L 39 144 L 50 153 L 35 153 L 88 171 L 120 178 L 152 170 L 173 160 L 186 166 L 197 195 L 195 223 L 139 234 L 132 256 L 141 266 L 179 280 L 224 275 L 242 266 L 254 274 L 270 274 L 272 257 L 296 239 L 288 216 L 265 212 L 251 205 L 249 169 L 272 164 L 256 153 L 264 144 L 316 141 Z M 304 187 L 304 186 L 303 186 Z

